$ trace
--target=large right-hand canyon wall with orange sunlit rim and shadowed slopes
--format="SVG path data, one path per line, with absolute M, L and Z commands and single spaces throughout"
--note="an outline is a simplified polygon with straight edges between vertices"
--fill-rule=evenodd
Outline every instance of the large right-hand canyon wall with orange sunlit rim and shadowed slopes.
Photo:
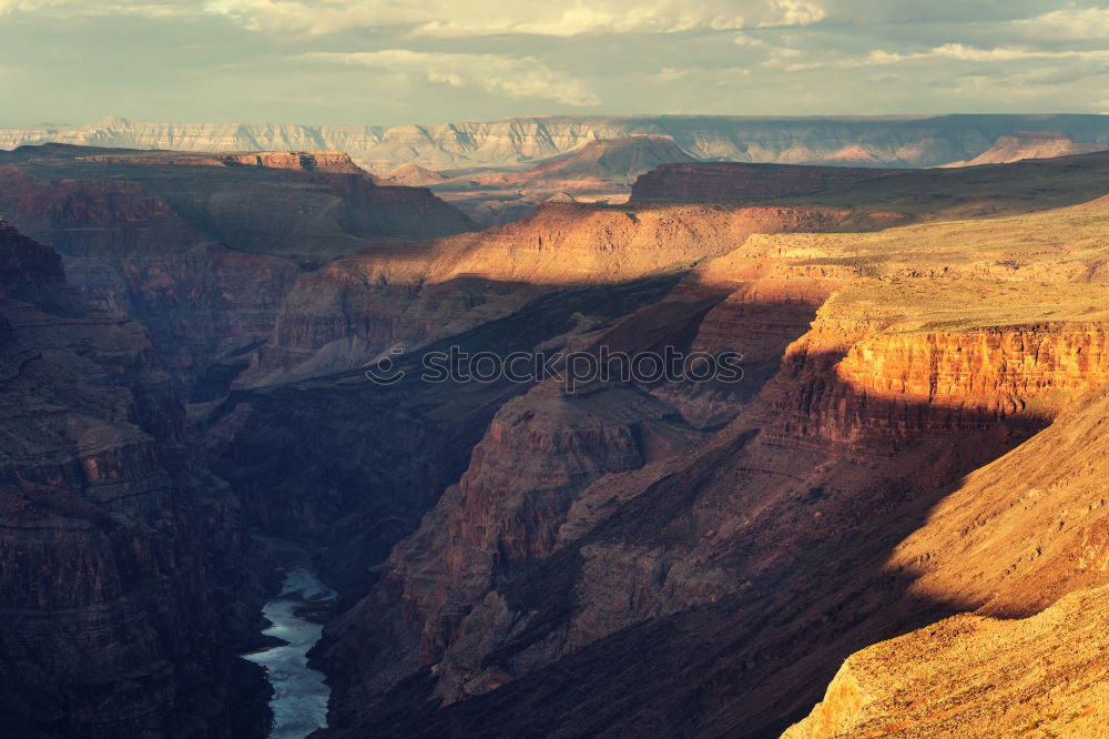
M 1008 559 L 1020 549 L 1008 529 L 968 508 L 1050 528 L 1048 507 L 1029 516 L 998 486 L 971 504 L 991 467 L 974 470 L 1026 446 L 1042 454 L 1037 434 L 1065 427 L 1060 408 L 1109 378 L 1103 284 L 1076 269 L 1103 249 L 1106 206 L 757 235 L 694 270 L 594 341 L 649 343 L 662 306 L 716 291 L 688 310 L 685 341 L 726 345 L 726 322 L 751 306 L 741 315 L 765 321 L 746 330 L 765 342 L 752 360 L 776 370 L 752 373 L 742 402 L 724 396 L 732 421 L 708 438 L 673 391 L 651 397 L 681 434 L 622 433 L 606 398 L 640 407 L 652 388 L 634 384 L 582 397 L 538 387 L 503 406 L 459 484 L 329 626 L 321 657 L 343 676 L 329 735 L 625 736 L 678 730 L 681 716 L 691 736 L 763 736 L 807 711 L 854 649 L 983 606 L 1000 583 L 973 577 L 975 557 L 948 558 L 935 537 L 983 527 L 1000 577 L 1026 557 Z M 953 249 L 953 233 L 977 251 Z M 886 250 L 877 265 L 872 246 Z M 667 417 L 637 415 L 648 427 Z M 966 522 L 934 527 L 938 510 Z M 1106 581 L 1097 530 L 1059 550 L 1093 566 L 1040 570 L 1025 607 Z M 945 587 L 956 577 L 962 587 Z M 398 702 L 438 708 L 410 718 Z

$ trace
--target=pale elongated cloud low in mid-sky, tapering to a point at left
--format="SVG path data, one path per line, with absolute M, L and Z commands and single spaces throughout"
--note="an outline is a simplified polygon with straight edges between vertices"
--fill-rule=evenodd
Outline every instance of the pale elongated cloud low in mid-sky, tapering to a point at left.
M 355 53 L 313 52 L 299 58 L 420 74 L 430 82 L 477 88 L 508 98 L 541 98 L 570 105 L 597 105 L 601 102 L 581 82 L 552 70 L 533 57 L 388 49 Z

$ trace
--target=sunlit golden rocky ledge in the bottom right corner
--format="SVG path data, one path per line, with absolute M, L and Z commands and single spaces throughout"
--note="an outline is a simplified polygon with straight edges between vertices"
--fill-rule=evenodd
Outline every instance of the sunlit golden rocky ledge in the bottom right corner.
M 1100 737 L 1105 588 L 1068 595 L 1021 621 L 955 616 L 853 655 L 824 700 L 783 739 Z M 1013 680 L 1017 664 L 1036 665 Z

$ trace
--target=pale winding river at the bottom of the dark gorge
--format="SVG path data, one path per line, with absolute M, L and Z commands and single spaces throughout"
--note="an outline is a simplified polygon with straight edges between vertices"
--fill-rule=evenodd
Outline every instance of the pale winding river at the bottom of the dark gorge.
M 308 667 L 308 650 L 319 640 L 324 627 L 297 617 L 296 611 L 334 598 L 335 591 L 316 579 L 312 570 L 297 567 L 285 575 L 281 595 L 262 609 L 273 625 L 263 634 L 285 644 L 243 659 L 264 667 L 273 686 L 269 708 L 274 723 L 269 739 L 304 739 L 327 726 L 332 691 L 324 682 L 324 674 Z

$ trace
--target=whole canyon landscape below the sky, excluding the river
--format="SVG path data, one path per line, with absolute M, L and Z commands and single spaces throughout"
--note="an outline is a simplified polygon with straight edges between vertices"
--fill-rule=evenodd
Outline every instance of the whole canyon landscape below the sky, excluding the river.
M 266 736 L 237 655 L 274 646 L 284 537 L 337 591 L 319 737 L 1098 736 L 1109 153 L 906 169 L 1105 144 L 1097 118 L 349 129 L 350 156 L 109 121 L 0 152 L 0 718 Z M 680 159 L 736 131 L 745 162 Z M 430 169 L 360 169 L 464 155 L 568 196 L 479 230 Z M 573 202 L 617 175 L 629 202 Z M 450 346 L 743 378 L 424 382 Z

